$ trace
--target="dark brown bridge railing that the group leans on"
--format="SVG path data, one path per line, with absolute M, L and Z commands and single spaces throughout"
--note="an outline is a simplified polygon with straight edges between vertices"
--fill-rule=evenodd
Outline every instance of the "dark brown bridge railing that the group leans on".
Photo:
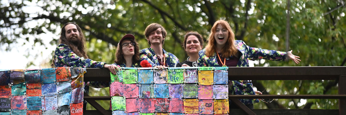
M 108 69 L 86 69 L 84 81 L 110 81 Z M 337 80 L 337 95 L 229 95 L 240 109 L 230 109 L 230 115 L 346 115 L 346 67 L 229 67 L 229 80 Z M 89 96 L 88 101 L 97 110 L 84 110 L 84 115 L 111 115 L 95 100 L 110 100 L 111 96 Z M 339 99 L 339 109 L 249 109 L 238 99 Z

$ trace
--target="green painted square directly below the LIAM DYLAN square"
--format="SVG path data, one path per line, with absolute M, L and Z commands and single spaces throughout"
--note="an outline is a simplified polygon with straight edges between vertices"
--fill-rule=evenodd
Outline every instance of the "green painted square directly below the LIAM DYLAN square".
M 198 86 L 196 84 L 185 84 L 183 91 L 184 98 L 197 98 L 198 96 Z

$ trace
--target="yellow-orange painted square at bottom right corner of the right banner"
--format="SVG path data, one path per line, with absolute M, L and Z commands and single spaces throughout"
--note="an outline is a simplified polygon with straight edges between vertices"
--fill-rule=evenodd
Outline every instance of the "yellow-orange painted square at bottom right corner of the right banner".
M 228 99 L 217 99 L 214 102 L 215 114 L 228 114 L 229 113 L 229 102 Z

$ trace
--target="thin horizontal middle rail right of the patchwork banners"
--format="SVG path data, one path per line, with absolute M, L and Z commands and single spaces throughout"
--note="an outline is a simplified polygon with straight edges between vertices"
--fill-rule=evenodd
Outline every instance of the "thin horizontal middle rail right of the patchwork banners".
M 346 99 L 346 95 L 228 95 L 234 99 Z

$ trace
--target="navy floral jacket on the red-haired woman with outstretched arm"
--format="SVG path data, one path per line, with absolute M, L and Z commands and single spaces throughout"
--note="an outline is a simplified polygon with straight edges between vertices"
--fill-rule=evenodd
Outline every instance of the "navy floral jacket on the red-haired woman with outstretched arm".
M 248 60 L 267 59 L 273 61 L 286 60 L 286 52 L 266 50 L 261 48 L 252 48 L 245 44 L 242 40 L 235 40 L 234 44 L 241 53 L 237 67 L 248 67 Z M 199 67 L 220 67 L 217 63 L 217 55 L 207 57 L 206 49 L 199 51 L 198 66 Z M 255 95 L 252 83 L 243 84 L 243 80 L 232 80 L 229 82 L 229 93 L 233 95 Z M 239 99 L 245 105 L 258 103 L 258 99 Z

